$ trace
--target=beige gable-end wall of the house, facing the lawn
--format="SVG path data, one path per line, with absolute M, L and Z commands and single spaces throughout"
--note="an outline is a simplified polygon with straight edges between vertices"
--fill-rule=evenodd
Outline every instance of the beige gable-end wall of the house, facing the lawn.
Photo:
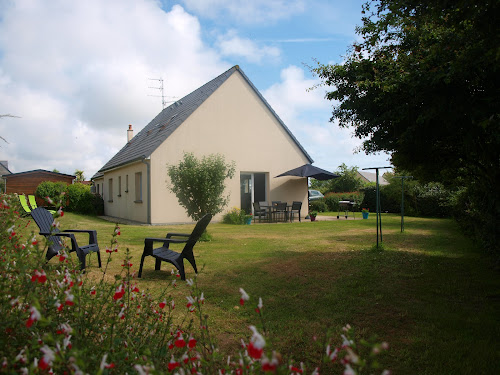
M 235 176 L 226 183 L 230 193 L 227 209 L 240 207 L 240 173 L 259 172 L 267 174 L 268 201 L 299 200 L 303 202 L 302 215 L 307 214 L 306 179 L 274 176 L 309 161 L 239 72 L 231 75 L 151 155 L 153 224 L 191 221 L 167 189 L 166 165 L 178 164 L 184 152 L 197 157 L 220 153 L 226 161 L 235 162 Z M 118 205 L 110 206 L 109 212 L 124 217 L 121 215 L 125 212 L 114 206 Z M 141 211 L 135 217 L 143 215 Z M 214 221 L 221 217 L 217 215 Z

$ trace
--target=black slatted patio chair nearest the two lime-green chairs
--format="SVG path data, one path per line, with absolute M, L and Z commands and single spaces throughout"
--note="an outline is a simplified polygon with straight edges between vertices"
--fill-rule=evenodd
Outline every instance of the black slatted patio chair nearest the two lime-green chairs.
M 73 251 L 76 252 L 78 260 L 80 260 L 81 270 L 85 269 L 85 259 L 90 252 L 97 253 L 99 268 L 101 267 L 101 254 L 99 252 L 97 232 L 95 230 L 66 229 L 64 232 L 61 232 L 58 228 L 54 228 L 52 226 L 54 218 L 52 217 L 52 214 L 43 207 L 35 208 L 31 211 L 31 216 L 40 229 L 40 235 L 45 236 L 49 240 L 49 248 L 47 249 L 47 254 L 45 255 L 47 262 L 54 256 L 58 255 L 59 251 L 64 248 L 60 237 L 68 237 L 71 240 L 70 253 Z M 88 233 L 89 244 L 85 246 L 78 245 L 73 233 Z

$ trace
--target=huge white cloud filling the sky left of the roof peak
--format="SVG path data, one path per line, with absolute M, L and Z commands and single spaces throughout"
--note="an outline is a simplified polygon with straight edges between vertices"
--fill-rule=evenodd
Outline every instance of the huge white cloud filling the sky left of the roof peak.
M 16 1 L 0 8 L 0 159 L 91 177 L 160 110 L 228 66 L 195 16 L 154 0 Z

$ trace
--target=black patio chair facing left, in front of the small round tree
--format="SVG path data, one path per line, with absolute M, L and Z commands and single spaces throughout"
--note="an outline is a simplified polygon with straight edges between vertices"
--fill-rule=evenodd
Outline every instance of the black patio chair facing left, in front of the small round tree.
M 181 275 L 181 280 L 186 280 L 186 273 L 184 271 L 184 259 L 187 259 L 189 263 L 193 266 L 194 272 L 198 273 L 198 269 L 196 268 L 196 261 L 194 260 L 193 247 L 200 239 L 201 235 L 205 231 L 212 220 L 211 214 L 206 214 L 203 216 L 196 226 L 194 227 L 191 234 L 185 233 L 167 233 L 165 238 L 146 238 L 144 240 L 144 252 L 141 257 L 141 265 L 139 267 L 138 276 L 142 275 L 142 266 L 144 265 L 144 258 L 147 256 L 152 256 L 156 259 L 155 261 L 155 270 L 159 271 L 161 267 L 161 262 L 169 262 L 175 266 L 179 270 Z M 172 238 L 172 237 L 184 237 L 184 238 Z M 154 242 L 162 242 L 163 245 L 156 249 L 153 248 Z M 177 243 L 185 243 L 184 249 L 182 252 L 178 253 L 176 251 L 170 250 L 170 244 Z

